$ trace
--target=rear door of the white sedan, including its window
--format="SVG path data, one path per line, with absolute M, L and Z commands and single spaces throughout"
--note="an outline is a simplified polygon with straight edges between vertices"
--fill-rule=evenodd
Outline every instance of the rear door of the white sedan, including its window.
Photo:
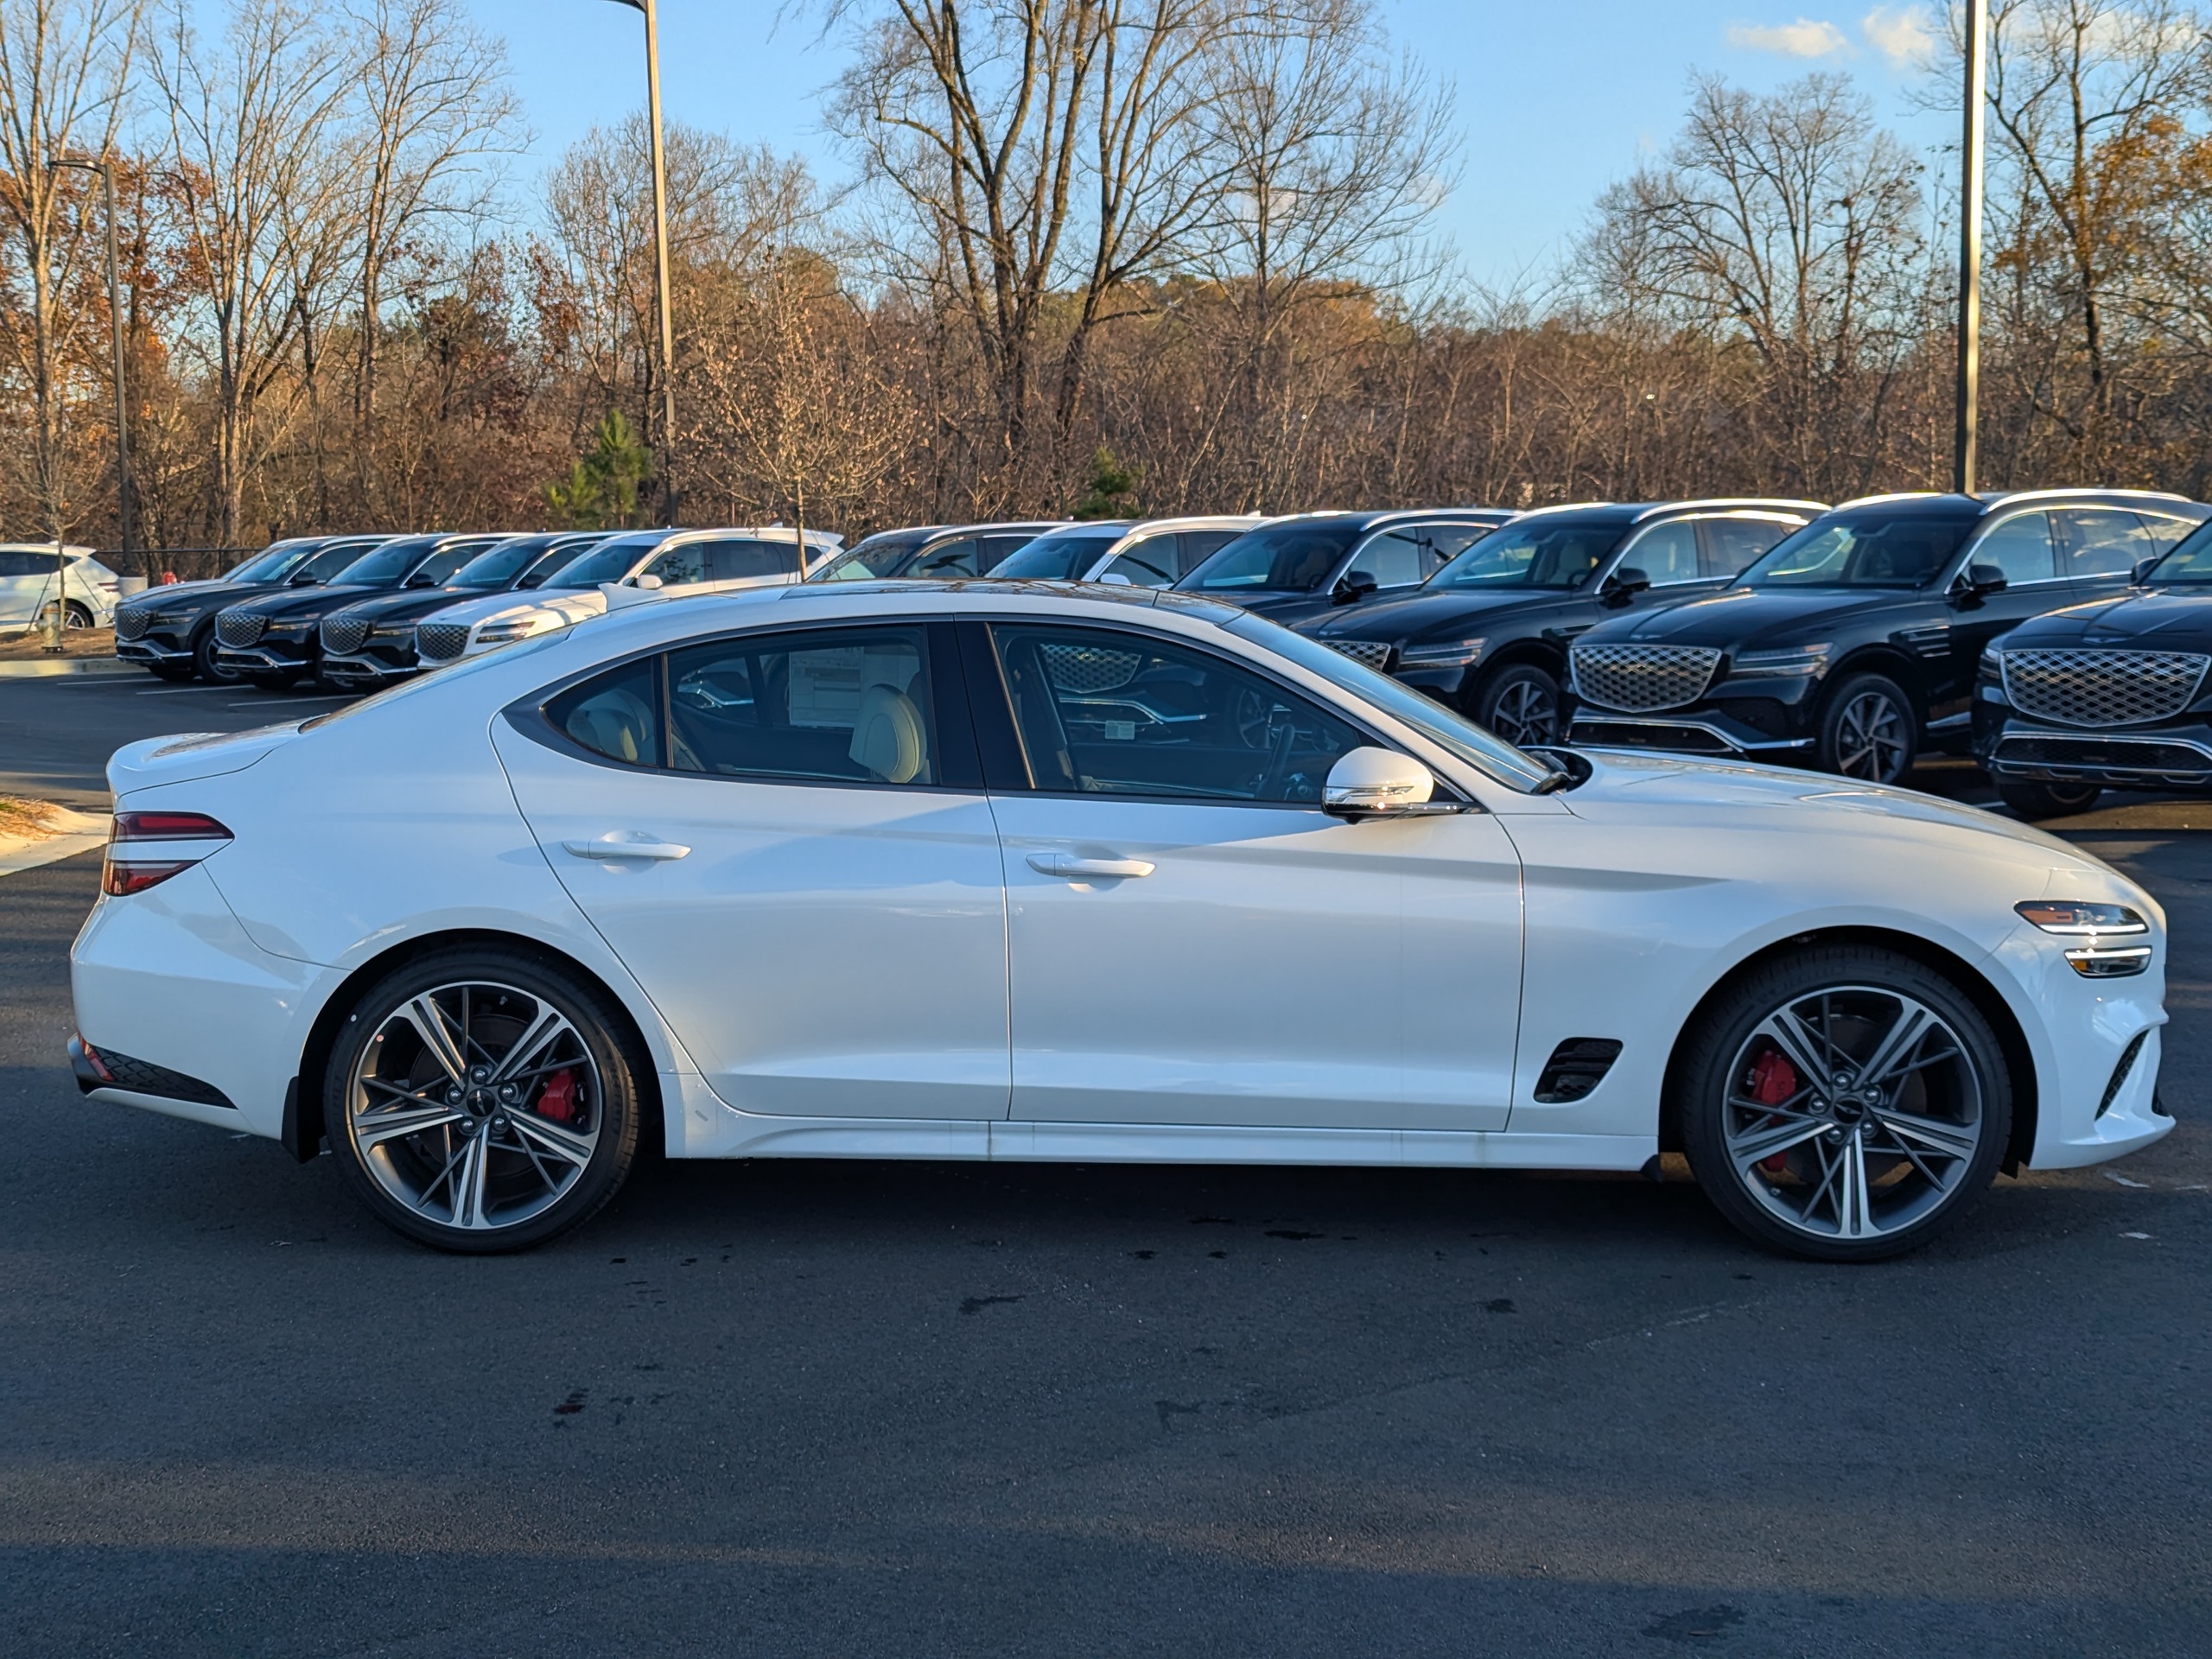
M 739 1110 L 1006 1115 L 1004 883 L 949 628 L 726 635 L 493 730 L 553 872 Z

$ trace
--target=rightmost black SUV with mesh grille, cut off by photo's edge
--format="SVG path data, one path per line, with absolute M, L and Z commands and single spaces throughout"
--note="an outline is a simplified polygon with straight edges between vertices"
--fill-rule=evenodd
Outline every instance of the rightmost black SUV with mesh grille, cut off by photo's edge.
M 1973 752 L 2024 818 L 2119 790 L 2212 787 L 2212 524 L 2135 586 L 2024 622 L 1982 653 Z

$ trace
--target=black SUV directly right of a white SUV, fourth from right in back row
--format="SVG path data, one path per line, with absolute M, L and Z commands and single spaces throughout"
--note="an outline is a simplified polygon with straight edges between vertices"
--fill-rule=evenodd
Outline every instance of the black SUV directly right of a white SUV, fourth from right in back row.
M 1511 520 L 1502 507 L 1296 513 L 1245 531 L 1175 584 L 1285 628 L 1334 606 L 1409 593 Z

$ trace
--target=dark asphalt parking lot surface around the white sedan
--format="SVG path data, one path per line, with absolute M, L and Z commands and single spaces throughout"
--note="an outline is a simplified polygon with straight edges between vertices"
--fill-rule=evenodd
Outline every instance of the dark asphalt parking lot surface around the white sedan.
M 0 792 L 332 706 L 0 681 Z M 438 1256 L 84 1104 L 97 856 L 9 876 L 0 1648 L 2201 1655 L 2188 823 L 2068 832 L 2168 907 L 2179 1130 L 1856 1270 L 1688 1183 L 958 1164 L 661 1166 Z

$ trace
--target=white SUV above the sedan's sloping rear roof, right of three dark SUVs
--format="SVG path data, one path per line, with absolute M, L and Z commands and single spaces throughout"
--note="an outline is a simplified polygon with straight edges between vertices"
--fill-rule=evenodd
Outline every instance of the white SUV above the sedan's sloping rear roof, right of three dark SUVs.
M 843 546 L 843 535 L 807 531 L 807 568 L 836 557 Z M 491 593 L 422 617 L 416 624 L 416 661 L 438 668 L 639 599 L 774 588 L 799 577 L 799 531 L 790 524 L 624 531 L 538 588 Z

